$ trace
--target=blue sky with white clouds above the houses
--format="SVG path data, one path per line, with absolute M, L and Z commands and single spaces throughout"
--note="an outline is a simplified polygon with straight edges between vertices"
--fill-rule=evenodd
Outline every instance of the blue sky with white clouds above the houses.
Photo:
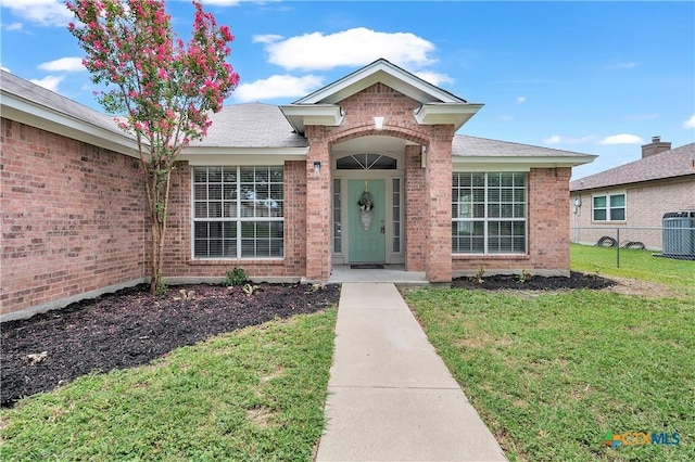
M 203 0 L 235 35 L 226 104 L 287 104 L 384 57 L 484 106 L 458 133 L 633 162 L 695 141 L 695 2 Z M 0 0 L 0 66 L 101 111 L 61 0 Z M 190 1 L 168 0 L 190 37 Z

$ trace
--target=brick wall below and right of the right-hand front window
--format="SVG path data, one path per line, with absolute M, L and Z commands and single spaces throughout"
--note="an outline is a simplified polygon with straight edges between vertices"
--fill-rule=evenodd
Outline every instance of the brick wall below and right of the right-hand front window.
M 532 168 L 529 172 L 528 255 L 454 256 L 454 270 L 564 273 L 569 271 L 570 168 Z M 567 230 L 567 231 L 566 231 Z

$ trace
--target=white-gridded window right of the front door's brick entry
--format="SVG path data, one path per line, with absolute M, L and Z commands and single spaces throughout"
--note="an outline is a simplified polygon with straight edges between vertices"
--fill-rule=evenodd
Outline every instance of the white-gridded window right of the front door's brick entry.
M 454 254 L 526 254 L 527 174 L 455 171 Z

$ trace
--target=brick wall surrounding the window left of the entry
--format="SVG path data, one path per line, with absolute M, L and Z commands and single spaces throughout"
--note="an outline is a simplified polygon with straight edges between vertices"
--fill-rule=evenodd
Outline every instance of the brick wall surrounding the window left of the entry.
M 168 279 L 219 279 L 235 267 L 249 277 L 300 278 L 306 267 L 306 162 L 285 162 L 285 258 L 193 260 L 191 167 L 177 163 L 172 176 L 163 273 Z

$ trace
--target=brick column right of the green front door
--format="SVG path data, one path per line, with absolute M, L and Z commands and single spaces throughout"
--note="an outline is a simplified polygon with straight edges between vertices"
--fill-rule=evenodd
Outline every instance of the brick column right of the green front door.
M 427 149 L 425 191 L 429 219 L 425 274 L 430 282 L 452 280 L 452 141 L 454 126 L 432 127 Z

